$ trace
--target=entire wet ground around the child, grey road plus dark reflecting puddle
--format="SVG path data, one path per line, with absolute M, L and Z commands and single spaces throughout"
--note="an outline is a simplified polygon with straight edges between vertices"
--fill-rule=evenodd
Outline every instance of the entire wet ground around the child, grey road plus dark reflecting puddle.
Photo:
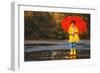
M 81 40 L 77 43 L 77 55 L 72 58 L 90 58 L 89 40 Z M 25 42 L 25 61 L 44 61 L 71 59 L 70 48 L 66 40 L 62 41 L 27 41 Z

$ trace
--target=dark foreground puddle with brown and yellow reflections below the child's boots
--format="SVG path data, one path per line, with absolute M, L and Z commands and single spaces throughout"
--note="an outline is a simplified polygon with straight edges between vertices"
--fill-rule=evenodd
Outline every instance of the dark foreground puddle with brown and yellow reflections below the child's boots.
M 90 50 L 76 50 L 76 54 L 70 54 L 71 50 L 44 50 L 25 53 L 25 61 L 67 60 L 90 58 Z

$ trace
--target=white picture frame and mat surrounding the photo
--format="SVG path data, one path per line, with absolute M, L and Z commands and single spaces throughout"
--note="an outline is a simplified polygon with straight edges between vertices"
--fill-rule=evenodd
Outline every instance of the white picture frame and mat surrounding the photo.
M 12 57 L 12 69 L 13 70 L 31 70 L 31 69 L 47 69 L 47 68 L 60 68 L 60 67 L 73 67 L 73 66 L 91 66 L 96 64 L 96 50 L 95 38 L 93 33 L 95 32 L 95 8 L 79 8 L 77 6 L 43 6 L 32 5 L 25 3 L 13 3 L 15 10 L 13 9 L 14 16 L 12 23 L 15 26 L 12 27 L 14 38 L 12 50 L 14 57 Z M 85 6 L 86 7 L 86 6 Z M 40 62 L 24 62 L 24 10 L 31 11 L 46 11 L 46 12 L 73 12 L 73 13 L 90 13 L 91 14 L 91 59 L 82 60 L 59 60 L 59 61 L 40 61 Z

